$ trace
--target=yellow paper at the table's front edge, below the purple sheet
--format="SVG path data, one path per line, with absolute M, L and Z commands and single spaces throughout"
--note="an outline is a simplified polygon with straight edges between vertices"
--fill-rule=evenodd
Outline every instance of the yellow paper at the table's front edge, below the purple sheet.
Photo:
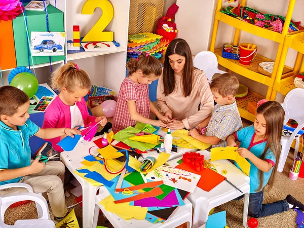
M 100 201 L 99 204 L 101 204 L 107 211 L 115 213 L 126 220 L 130 218 L 144 219 L 148 212 L 148 208 L 146 207 L 130 206 L 130 202 L 116 204 L 114 201 L 115 199 L 112 195 L 109 195 Z

